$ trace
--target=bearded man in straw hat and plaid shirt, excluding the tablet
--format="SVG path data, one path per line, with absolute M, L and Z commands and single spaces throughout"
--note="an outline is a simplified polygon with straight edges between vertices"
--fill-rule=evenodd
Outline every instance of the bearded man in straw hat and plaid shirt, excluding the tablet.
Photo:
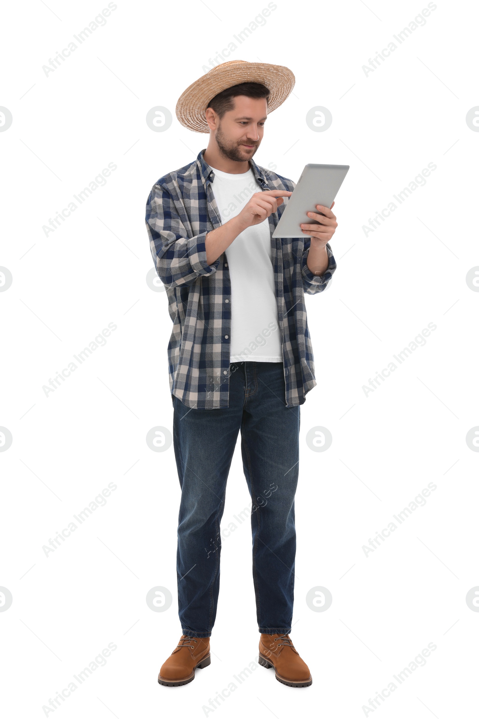
M 272 239 L 292 180 L 252 159 L 266 116 L 294 87 L 288 68 L 233 60 L 178 100 L 184 127 L 209 132 L 194 162 L 160 178 L 147 230 L 173 321 L 169 386 L 182 489 L 177 582 L 182 637 L 158 681 L 187 684 L 210 664 L 220 581 L 220 520 L 241 431 L 251 494 L 259 663 L 290 687 L 312 684 L 289 632 L 294 590 L 294 493 L 299 406 L 315 385 L 304 293 L 325 289 L 336 264 L 329 208 L 304 238 Z M 289 134 L 288 134 L 289 137 Z M 235 626 L 241 626 L 236 620 Z

